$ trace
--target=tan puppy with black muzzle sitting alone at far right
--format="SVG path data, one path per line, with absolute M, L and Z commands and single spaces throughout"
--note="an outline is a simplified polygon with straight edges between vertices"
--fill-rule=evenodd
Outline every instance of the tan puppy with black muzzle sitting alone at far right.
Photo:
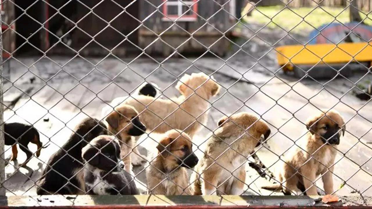
M 330 110 L 326 114 L 310 117 L 306 126 L 307 134 L 299 143 L 296 142 L 299 147 L 294 146 L 283 159 L 278 173 L 281 184 L 264 186 L 263 189 L 283 189 L 285 194 L 298 195 L 306 192 L 307 195 L 318 195 L 315 180 L 322 175 L 325 193 L 334 192 L 332 165 L 337 153 L 335 148 L 340 144 L 341 132 L 344 135 L 346 130 L 344 120 L 336 110 Z

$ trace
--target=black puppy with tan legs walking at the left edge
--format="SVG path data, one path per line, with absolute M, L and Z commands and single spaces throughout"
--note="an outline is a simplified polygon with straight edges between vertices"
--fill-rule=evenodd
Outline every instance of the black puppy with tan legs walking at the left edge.
M 43 143 L 40 141 L 39 132 L 30 125 L 22 123 L 4 123 L 4 132 L 5 145 L 12 146 L 12 157 L 10 157 L 10 160 L 17 160 L 17 144 L 19 144 L 19 148 L 26 153 L 26 161 L 22 163 L 21 166 L 25 166 L 31 160 L 33 153 L 28 149 L 28 144 L 30 142 L 38 146 L 36 157 L 40 156 L 42 148 L 47 148 L 49 146 L 47 145 L 43 147 Z

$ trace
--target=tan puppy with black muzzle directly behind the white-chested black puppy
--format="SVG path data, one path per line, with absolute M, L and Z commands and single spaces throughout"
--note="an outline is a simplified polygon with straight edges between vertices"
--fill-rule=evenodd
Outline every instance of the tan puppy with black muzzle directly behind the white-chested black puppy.
M 145 133 L 146 127 L 140 122 L 138 112 L 129 105 L 116 107 L 106 118 L 108 131 L 119 138 L 121 152 L 126 167 L 125 170 L 130 173 L 132 170 L 131 152 L 134 147 L 134 139 L 131 136 L 140 136 Z

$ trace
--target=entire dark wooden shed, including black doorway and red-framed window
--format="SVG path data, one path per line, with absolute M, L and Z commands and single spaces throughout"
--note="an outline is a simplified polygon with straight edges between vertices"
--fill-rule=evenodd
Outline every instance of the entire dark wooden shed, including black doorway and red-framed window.
M 137 56 L 204 53 L 225 54 L 235 23 L 235 0 L 15 0 L 17 31 L 48 54 Z M 33 3 L 35 2 L 35 4 Z M 17 10 L 20 10 L 17 12 Z M 47 21 L 48 20 L 48 21 Z M 46 22 L 45 22 L 46 21 Z M 44 23 L 44 29 L 40 23 Z M 75 25 L 75 23 L 77 23 Z M 58 43 L 59 38 L 64 44 Z M 17 46 L 24 39 L 17 38 Z M 52 47 L 50 49 L 50 47 Z M 24 46 L 23 46 L 24 48 Z M 40 51 L 31 47 L 35 53 Z M 26 51 L 21 50 L 19 52 Z

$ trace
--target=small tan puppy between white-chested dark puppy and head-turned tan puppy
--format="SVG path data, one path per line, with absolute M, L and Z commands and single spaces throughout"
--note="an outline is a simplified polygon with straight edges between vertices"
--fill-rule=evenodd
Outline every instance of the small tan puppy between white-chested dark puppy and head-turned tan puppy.
M 149 194 L 190 195 L 186 168 L 193 168 L 198 158 L 192 152 L 191 138 L 180 130 L 161 135 L 157 152 L 149 156 L 146 167 Z

